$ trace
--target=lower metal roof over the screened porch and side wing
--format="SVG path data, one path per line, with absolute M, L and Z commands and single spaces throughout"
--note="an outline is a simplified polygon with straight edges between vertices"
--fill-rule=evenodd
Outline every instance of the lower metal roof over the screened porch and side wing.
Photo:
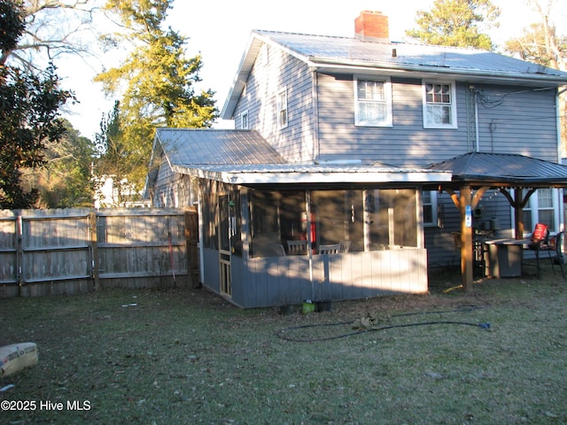
M 291 164 L 252 130 L 159 128 L 146 187 L 157 179 L 161 153 L 176 173 L 232 184 L 431 183 L 451 178 L 445 171 L 382 164 Z

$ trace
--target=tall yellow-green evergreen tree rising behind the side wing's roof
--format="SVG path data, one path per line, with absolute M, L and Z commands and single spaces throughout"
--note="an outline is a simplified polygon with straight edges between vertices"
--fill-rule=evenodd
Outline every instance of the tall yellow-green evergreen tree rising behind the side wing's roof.
M 185 58 L 186 39 L 162 29 L 173 0 L 107 0 L 128 29 L 126 35 L 108 37 L 135 47 L 119 67 L 100 73 L 96 81 L 107 94 L 121 96 L 121 131 L 130 182 L 144 184 L 156 127 L 208 128 L 217 117 L 211 90 L 196 93 L 202 61 Z

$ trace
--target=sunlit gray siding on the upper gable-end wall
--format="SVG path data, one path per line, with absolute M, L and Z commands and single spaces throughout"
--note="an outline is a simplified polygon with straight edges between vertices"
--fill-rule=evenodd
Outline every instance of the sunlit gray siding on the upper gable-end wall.
M 268 58 L 265 58 L 268 56 Z M 240 128 L 240 114 L 248 111 L 249 128 L 258 130 L 268 143 L 291 162 L 310 161 L 314 156 L 313 77 L 307 66 L 282 50 L 268 46 L 246 81 L 235 112 L 235 126 Z M 276 125 L 276 93 L 287 89 L 288 127 Z

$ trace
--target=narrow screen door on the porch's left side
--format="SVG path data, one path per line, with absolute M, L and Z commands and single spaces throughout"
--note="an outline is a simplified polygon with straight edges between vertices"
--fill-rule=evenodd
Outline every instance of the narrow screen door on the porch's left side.
M 230 270 L 230 260 L 232 258 L 231 240 L 234 236 L 236 218 L 231 213 L 229 195 L 219 197 L 219 261 L 221 267 L 221 294 L 232 296 L 232 273 Z

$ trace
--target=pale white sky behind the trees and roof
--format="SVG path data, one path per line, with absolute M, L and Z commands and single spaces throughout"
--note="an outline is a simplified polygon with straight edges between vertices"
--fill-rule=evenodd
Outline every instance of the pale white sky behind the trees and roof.
M 565 3 L 558 0 L 563 10 L 555 14 L 563 22 L 567 21 Z M 380 11 L 388 16 L 391 40 L 402 41 L 405 31 L 416 27 L 416 12 L 429 10 L 431 4 L 433 0 L 175 0 L 167 24 L 189 38 L 190 58 L 201 54 L 199 89 L 212 89 L 221 111 L 253 29 L 353 36 L 354 19 L 361 11 Z M 521 34 L 522 28 L 536 19 L 524 0 L 493 0 L 493 4 L 501 7 L 501 27 L 491 33 L 497 44 Z M 118 65 L 121 58 L 123 52 L 111 51 L 99 58 L 67 58 L 57 63 L 64 87 L 72 89 L 80 102 L 71 105 L 65 117 L 85 137 L 94 139 L 103 113 L 111 112 L 114 102 L 105 98 L 102 85 L 93 78 L 104 67 Z M 214 127 L 230 128 L 231 123 L 223 121 Z

